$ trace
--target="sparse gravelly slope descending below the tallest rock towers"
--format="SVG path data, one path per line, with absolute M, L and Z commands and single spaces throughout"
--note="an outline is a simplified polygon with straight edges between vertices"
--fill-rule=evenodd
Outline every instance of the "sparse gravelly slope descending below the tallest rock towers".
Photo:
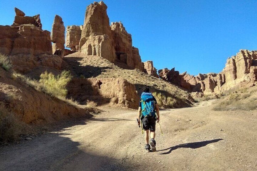
M 182 88 L 145 74 L 138 69 L 131 70 L 129 66 L 118 61 L 114 64 L 101 57 L 85 55 L 80 52 L 69 54 L 63 60 L 62 69 L 70 70 L 74 77 L 124 78 L 135 85 L 139 95 L 142 93 L 142 87 L 149 86 L 153 92 L 161 92 L 166 97 L 172 97 L 174 99 L 173 107 L 189 107 L 193 101 L 187 91 Z

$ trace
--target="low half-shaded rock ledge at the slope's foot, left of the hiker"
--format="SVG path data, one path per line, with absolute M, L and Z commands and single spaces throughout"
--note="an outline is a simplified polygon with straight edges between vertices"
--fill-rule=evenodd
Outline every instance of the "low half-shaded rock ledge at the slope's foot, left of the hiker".
M 138 108 L 135 86 L 123 78 L 73 78 L 67 87 L 68 96 L 81 104 L 89 100 L 98 105 Z

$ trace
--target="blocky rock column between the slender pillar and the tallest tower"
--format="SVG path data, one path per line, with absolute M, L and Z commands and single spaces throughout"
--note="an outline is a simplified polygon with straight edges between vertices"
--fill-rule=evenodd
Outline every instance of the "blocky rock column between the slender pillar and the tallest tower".
M 66 47 L 71 48 L 71 51 L 79 50 L 79 41 L 81 39 L 81 32 L 83 25 L 71 25 L 66 28 Z

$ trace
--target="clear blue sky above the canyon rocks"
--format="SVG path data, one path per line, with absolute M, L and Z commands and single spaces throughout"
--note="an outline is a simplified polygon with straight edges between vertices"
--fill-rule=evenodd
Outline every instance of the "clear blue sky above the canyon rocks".
M 257 50 L 257 1 L 105 0 L 110 22 L 122 21 L 142 61 L 159 70 L 189 74 L 218 73 L 239 49 Z M 0 25 L 11 25 L 14 7 L 27 16 L 40 14 L 51 31 L 55 14 L 67 25 L 83 25 L 93 1 L 0 0 Z

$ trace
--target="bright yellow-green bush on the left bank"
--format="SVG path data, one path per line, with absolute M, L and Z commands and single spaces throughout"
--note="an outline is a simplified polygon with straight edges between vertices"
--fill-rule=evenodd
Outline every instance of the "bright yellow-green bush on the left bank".
M 56 97 L 65 97 L 68 92 L 66 85 L 71 79 L 70 71 L 62 71 L 62 73 L 57 76 L 45 71 L 45 73 L 40 75 L 39 83 L 46 93 Z

